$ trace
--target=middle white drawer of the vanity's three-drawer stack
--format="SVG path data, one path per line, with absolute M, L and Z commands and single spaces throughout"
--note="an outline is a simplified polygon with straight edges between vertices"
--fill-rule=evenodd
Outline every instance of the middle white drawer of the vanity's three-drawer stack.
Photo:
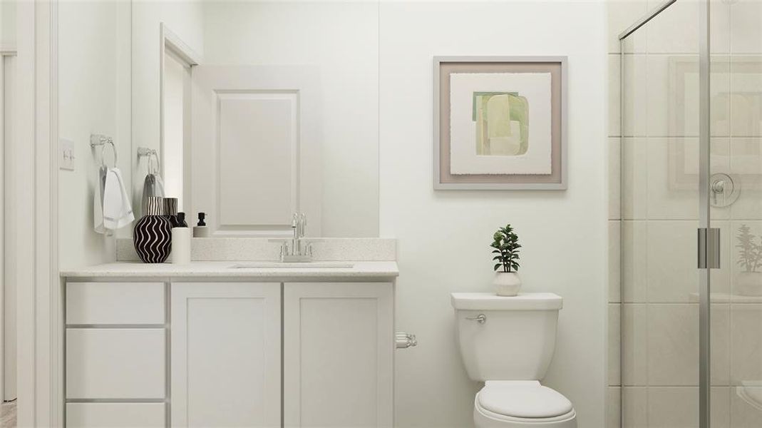
M 66 330 L 67 398 L 164 398 L 165 330 Z

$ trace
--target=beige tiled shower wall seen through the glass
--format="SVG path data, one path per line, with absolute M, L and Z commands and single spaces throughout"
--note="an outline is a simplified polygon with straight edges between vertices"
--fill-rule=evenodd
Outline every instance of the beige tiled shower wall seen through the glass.
M 620 130 L 617 34 L 659 3 L 609 2 L 609 427 L 698 425 L 698 86 L 686 80 L 676 94 L 675 79 L 698 69 L 701 2 L 678 0 L 628 38 Z M 741 224 L 757 243 L 762 235 L 762 1 L 712 0 L 711 16 L 712 172 L 742 185 L 735 204 L 712 209 L 722 236 L 722 269 L 712 271 L 712 428 L 759 427 L 762 410 L 736 387 L 762 381 L 762 298 L 739 296 L 735 245 Z

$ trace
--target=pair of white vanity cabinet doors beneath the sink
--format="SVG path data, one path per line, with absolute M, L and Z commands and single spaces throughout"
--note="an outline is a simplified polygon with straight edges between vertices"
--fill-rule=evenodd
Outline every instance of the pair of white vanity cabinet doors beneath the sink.
M 389 282 L 173 283 L 172 426 L 281 426 L 281 409 L 282 426 L 392 426 L 393 295 Z

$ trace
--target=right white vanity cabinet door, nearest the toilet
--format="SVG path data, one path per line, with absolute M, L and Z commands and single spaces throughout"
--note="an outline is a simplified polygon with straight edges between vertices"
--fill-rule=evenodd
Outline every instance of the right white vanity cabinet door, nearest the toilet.
M 394 286 L 287 283 L 284 426 L 392 426 Z

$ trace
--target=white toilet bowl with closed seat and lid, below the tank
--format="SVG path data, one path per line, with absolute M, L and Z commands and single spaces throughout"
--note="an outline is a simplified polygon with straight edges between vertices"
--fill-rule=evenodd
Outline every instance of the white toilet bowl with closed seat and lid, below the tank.
M 571 401 L 539 381 L 487 381 L 474 400 L 474 421 L 482 427 L 575 428 Z

